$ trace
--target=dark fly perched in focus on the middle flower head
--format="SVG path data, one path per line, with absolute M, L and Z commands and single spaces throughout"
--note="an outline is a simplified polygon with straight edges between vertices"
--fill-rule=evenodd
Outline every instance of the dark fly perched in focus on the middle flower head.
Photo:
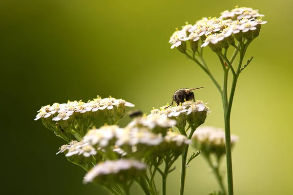
M 177 103 L 177 105 L 179 105 L 180 102 L 183 103 L 185 101 L 189 101 L 192 99 L 193 99 L 193 101 L 195 101 L 194 94 L 191 91 L 196 90 L 196 89 L 201 89 L 201 88 L 204 88 L 204 87 L 191 88 L 191 89 L 187 89 L 187 88 L 177 89 L 173 95 L 172 103 L 169 106 L 172 106 L 174 101 Z

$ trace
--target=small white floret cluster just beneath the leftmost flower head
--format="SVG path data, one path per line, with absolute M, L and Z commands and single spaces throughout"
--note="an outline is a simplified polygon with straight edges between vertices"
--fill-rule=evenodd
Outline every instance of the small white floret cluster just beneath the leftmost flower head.
M 91 155 L 96 155 L 97 150 L 84 141 L 71 141 L 69 144 L 61 146 L 59 148 L 59 152 L 56 155 L 60 153 L 65 153 L 66 157 L 73 155 L 83 155 L 84 157 L 89 157 Z

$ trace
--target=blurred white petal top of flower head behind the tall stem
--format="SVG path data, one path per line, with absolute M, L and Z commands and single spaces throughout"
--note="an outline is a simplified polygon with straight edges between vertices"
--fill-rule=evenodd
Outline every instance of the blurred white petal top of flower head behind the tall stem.
M 225 147 L 225 132 L 220 128 L 199 127 L 193 133 L 191 139 L 199 143 Z M 238 136 L 231 135 L 231 145 L 234 145 L 237 141 Z

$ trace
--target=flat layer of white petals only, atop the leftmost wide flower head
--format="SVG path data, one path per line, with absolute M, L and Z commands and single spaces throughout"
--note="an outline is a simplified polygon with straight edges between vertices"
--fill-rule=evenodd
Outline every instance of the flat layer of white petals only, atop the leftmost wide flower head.
M 116 99 L 116 98 L 94 98 L 93 100 L 89 100 L 87 103 L 84 103 L 82 100 L 80 101 L 68 101 L 67 103 L 54 103 L 52 106 L 46 105 L 43 106 L 36 116 L 35 120 L 38 120 L 41 117 L 47 118 L 55 113 L 58 115 L 54 115 L 52 120 L 67 120 L 74 112 L 76 113 L 86 113 L 86 112 L 96 112 L 98 110 L 111 110 L 114 106 L 118 107 L 119 105 L 124 105 L 128 107 L 134 107 L 134 104 L 126 102 L 124 99 Z

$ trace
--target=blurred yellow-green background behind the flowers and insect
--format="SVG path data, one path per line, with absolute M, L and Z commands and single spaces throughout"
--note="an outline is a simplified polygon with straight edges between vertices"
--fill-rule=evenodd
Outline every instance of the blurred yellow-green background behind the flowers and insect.
M 259 9 L 268 21 L 248 49 L 246 60 L 254 59 L 234 98 L 231 131 L 240 137 L 233 151 L 235 195 L 293 194 L 290 0 L 0 0 L 1 192 L 103 194 L 82 184 L 80 167 L 55 155 L 63 140 L 33 120 L 42 105 L 111 95 L 148 113 L 170 102 L 178 88 L 205 86 L 196 91 L 212 110 L 204 125 L 223 127 L 218 91 L 168 39 L 185 21 L 219 16 L 235 5 Z M 220 79 L 220 64 L 208 50 L 205 58 Z M 180 160 L 176 165 L 168 195 L 179 194 Z M 188 168 L 186 195 L 217 189 L 197 157 Z

